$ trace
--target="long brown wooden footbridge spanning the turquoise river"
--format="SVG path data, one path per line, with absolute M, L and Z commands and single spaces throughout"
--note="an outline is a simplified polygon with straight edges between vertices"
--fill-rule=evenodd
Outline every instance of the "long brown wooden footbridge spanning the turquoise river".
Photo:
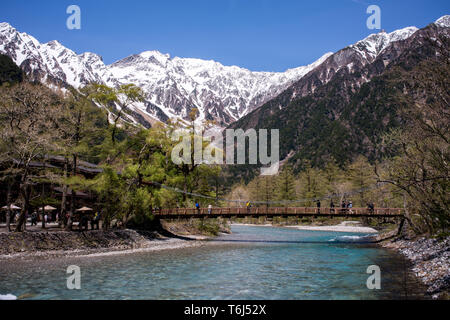
M 403 217 L 401 208 L 176 208 L 155 211 L 160 219 L 190 219 L 190 218 L 244 218 L 244 217 Z

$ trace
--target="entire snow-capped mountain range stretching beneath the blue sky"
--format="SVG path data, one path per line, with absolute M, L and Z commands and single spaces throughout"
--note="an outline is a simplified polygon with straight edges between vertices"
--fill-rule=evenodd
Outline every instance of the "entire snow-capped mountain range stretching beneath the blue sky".
M 448 25 L 449 20 L 449 16 L 444 16 L 435 23 Z M 132 106 L 140 122 L 186 118 L 195 107 L 200 111 L 199 120 L 227 125 L 296 83 L 305 85 L 294 90 L 293 96 L 308 95 L 341 68 L 372 63 L 390 44 L 405 40 L 416 31 L 417 28 L 409 27 L 372 34 L 335 54 L 325 54 L 309 66 L 286 72 L 252 72 L 215 61 L 171 58 L 158 51 L 105 65 L 95 53 L 77 54 L 58 41 L 41 44 L 8 23 L 0 23 L 0 53 L 10 56 L 33 79 L 50 85 L 79 88 L 93 81 L 109 86 L 133 83 L 146 95 L 145 103 Z M 311 81 L 299 82 L 306 80 L 307 75 Z

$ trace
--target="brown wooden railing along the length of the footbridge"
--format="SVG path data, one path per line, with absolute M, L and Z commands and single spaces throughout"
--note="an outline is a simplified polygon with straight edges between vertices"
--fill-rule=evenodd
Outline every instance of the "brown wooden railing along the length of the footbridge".
M 159 216 L 248 216 L 248 215 L 373 215 L 373 216 L 399 216 L 402 208 L 316 208 L 316 207 L 252 207 L 252 208 L 173 208 L 155 211 Z

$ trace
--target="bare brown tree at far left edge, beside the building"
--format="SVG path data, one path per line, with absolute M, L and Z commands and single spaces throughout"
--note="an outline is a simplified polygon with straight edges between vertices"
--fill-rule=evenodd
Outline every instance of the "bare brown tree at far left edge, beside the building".
M 0 91 L 0 161 L 9 164 L 19 183 L 22 211 L 16 231 L 23 231 L 30 207 L 34 175 L 33 162 L 45 161 L 54 150 L 52 118 L 61 104 L 50 89 L 21 83 Z M 13 177 L 13 179 L 15 179 Z

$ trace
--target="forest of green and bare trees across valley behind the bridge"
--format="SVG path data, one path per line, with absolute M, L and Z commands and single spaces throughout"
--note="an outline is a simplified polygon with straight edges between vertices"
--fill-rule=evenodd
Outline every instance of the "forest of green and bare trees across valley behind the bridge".
M 184 128 L 195 134 L 195 109 L 187 121 L 144 128 L 127 116 L 130 106 L 143 100 L 133 84 L 55 90 L 28 81 L 12 61 L 0 62 L 0 203 L 20 205 L 16 232 L 24 230 L 30 212 L 46 205 L 57 207 L 71 230 L 82 204 L 101 212 L 106 228 L 145 228 L 156 208 L 197 202 L 314 206 L 318 200 L 323 207 L 352 201 L 354 207 L 405 208 L 417 233 L 448 232 L 450 114 L 449 92 L 442 90 L 448 88 L 448 65 L 429 64 L 416 72 L 411 85 L 422 85 L 415 91 L 427 95 L 402 107 L 403 125 L 379 142 L 383 158 L 285 161 L 278 175 L 244 180 L 227 166 L 170 160 L 178 143 L 172 133 Z M 435 81 L 444 83 L 433 86 Z M 10 230 L 9 213 L 6 218 Z

